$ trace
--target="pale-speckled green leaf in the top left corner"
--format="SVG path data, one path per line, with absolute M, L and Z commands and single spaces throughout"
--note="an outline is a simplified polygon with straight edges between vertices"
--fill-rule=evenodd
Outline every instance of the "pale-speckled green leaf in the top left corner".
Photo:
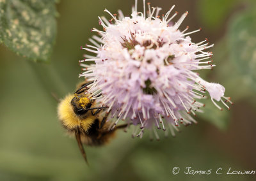
M 0 0 L 0 42 L 19 55 L 47 61 L 56 38 L 54 0 Z

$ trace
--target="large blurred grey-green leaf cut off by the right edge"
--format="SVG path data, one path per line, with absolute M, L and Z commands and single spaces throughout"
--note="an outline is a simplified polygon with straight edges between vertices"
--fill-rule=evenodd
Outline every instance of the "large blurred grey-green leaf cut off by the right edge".
M 250 88 L 256 89 L 256 13 L 249 10 L 230 23 L 228 45 L 231 61 L 236 64 Z

